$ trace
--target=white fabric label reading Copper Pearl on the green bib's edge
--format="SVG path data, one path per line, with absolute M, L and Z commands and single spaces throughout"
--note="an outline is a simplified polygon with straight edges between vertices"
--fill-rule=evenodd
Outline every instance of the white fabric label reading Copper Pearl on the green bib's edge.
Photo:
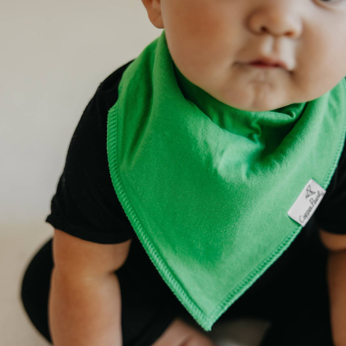
M 288 216 L 304 227 L 310 220 L 325 194 L 326 190 L 323 189 L 315 180 L 310 179 L 293 203 L 290 210 L 287 212 Z

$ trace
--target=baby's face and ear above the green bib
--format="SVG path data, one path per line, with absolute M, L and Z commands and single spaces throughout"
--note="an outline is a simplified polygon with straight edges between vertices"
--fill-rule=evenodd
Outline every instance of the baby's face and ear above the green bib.
M 142 0 L 190 82 L 249 111 L 316 99 L 346 75 L 346 0 Z M 284 67 L 249 64 L 261 57 Z

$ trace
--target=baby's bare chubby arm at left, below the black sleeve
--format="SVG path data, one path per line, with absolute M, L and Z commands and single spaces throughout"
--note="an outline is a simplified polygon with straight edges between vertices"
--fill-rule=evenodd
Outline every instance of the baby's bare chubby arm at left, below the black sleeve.
M 122 345 L 115 271 L 130 243 L 93 243 L 54 229 L 48 324 L 55 346 Z

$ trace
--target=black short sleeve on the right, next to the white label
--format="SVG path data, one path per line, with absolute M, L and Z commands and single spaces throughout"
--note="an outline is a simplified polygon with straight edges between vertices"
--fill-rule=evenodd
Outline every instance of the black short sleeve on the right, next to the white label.
M 326 194 L 315 211 L 319 228 L 330 233 L 346 234 L 346 146 L 340 156 Z

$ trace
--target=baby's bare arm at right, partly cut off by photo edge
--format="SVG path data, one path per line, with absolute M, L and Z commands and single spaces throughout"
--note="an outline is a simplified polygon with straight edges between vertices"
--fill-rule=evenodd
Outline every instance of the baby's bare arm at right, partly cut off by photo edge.
M 320 229 L 320 239 L 329 250 L 327 280 L 333 341 L 335 346 L 346 346 L 346 235 Z

